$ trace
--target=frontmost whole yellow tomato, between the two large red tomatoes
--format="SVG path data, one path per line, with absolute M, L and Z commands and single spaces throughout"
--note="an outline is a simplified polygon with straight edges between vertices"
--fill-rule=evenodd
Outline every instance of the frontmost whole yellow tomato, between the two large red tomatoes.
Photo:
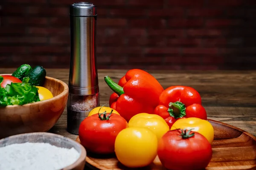
M 115 153 L 126 167 L 145 167 L 157 156 L 157 136 L 145 127 L 128 127 L 116 136 Z

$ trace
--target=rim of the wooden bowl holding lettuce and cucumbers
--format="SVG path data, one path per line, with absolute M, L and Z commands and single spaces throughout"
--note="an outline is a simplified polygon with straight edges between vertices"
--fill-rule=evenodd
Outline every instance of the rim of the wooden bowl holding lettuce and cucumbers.
M 0 74 L 0 76 L 1 75 L 12 75 L 12 74 Z M 52 102 L 53 100 L 59 100 L 59 99 L 61 99 L 62 96 L 65 96 L 65 95 L 68 94 L 69 88 L 68 88 L 68 85 L 65 82 L 63 82 L 59 79 L 55 79 L 53 77 L 46 76 L 45 78 L 46 79 L 52 79 L 56 82 L 61 83 L 61 85 L 64 87 L 64 90 L 61 92 L 61 94 L 58 94 L 57 96 L 54 96 L 51 99 L 47 99 L 47 100 L 43 100 L 43 101 L 39 101 L 39 102 L 27 103 L 25 105 L 7 105 L 6 107 L 3 107 L 3 108 L 15 108 L 15 107 L 22 107 L 22 106 L 29 107 L 31 105 L 38 105 L 38 104 L 48 103 L 48 102 Z

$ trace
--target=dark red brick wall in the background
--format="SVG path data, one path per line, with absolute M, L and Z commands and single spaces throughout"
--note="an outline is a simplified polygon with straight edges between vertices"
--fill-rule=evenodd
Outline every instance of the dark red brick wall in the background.
M 1 0 L 0 67 L 69 68 L 74 0 Z M 255 0 L 88 0 L 98 68 L 255 69 Z

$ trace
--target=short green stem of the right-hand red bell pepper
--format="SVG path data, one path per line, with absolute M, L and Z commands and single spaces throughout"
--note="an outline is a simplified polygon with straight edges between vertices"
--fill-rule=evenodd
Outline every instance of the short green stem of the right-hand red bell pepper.
M 168 112 L 170 116 L 174 117 L 175 119 L 178 119 L 183 116 L 186 116 L 186 107 L 182 102 L 170 102 Z

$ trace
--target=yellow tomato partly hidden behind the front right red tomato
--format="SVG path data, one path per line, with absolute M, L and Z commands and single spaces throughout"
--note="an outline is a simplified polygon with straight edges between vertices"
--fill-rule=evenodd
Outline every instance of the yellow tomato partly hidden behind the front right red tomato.
M 207 120 L 199 119 L 196 117 L 189 117 L 186 119 L 177 120 L 171 127 L 171 130 L 187 129 L 201 133 L 212 144 L 214 138 L 214 130 L 212 124 Z

